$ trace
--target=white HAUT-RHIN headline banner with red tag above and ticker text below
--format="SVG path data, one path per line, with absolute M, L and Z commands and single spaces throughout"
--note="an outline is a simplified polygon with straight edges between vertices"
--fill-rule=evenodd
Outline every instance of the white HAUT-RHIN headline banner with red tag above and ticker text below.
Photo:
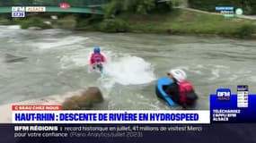
M 207 110 L 70 111 L 62 110 L 61 105 L 12 108 L 14 138 L 141 138 L 162 131 L 201 131 L 201 126 L 192 124 L 210 121 Z

